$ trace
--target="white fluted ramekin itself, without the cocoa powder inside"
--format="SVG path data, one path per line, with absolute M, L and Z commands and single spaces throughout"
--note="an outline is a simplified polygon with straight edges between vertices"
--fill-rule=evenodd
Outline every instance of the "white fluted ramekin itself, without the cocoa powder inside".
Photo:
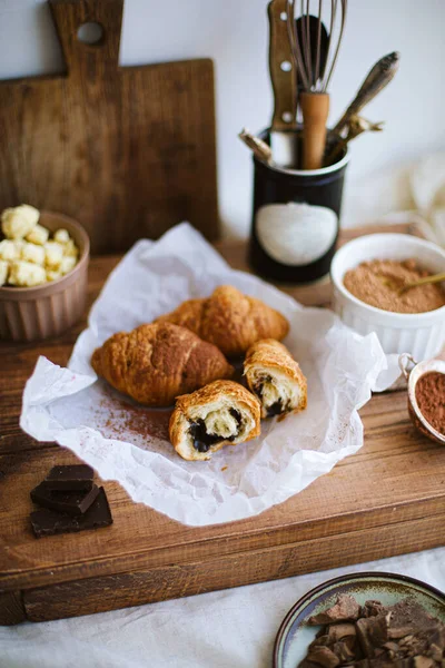
M 435 274 L 445 272 L 445 250 L 407 234 L 369 234 L 345 244 L 330 267 L 334 311 L 359 334 L 375 332 L 385 353 L 411 353 L 421 362 L 444 345 L 445 306 L 427 313 L 392 313 L 360 302 L 343 284 L 345 273 L 362 262 L 409 257 Z

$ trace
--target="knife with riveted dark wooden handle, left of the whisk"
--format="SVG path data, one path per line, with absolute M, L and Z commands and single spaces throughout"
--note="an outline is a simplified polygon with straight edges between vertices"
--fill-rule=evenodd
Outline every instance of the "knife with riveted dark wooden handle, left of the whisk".
M 271 0 L 269 17 L 269 71 L 274 90 L 270 147 L 274 163 L 297 165 L 297 75 L 287 36 L 287 0 Z

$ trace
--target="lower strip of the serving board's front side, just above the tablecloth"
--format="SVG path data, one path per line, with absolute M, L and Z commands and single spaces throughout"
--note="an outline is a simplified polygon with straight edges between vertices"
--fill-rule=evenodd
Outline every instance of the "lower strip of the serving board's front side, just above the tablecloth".
M 445 525 L 444 513 L 196 563 L 24 590 L 24 613 L 30 621 L 92 615 L 415 552 L 442 544 L 437 523 Z

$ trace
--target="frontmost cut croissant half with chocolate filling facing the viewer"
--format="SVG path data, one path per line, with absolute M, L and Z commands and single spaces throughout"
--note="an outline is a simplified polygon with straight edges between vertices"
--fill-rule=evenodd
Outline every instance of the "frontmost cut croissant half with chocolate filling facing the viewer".
M 236 445 L 260 432 L 258 400 L 233 381 L 215 381 L 178 396 L 170 418 L 170 441 L 185 460 L 209 460 L 224 445 Z

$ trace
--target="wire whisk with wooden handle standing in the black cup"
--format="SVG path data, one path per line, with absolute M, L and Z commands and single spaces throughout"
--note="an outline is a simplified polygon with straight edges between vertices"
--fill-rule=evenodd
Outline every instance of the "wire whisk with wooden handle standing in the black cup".
M 314 0 L 313 0 L 314 1 Z M 330 6 L 329 39 L 327 52 L 322 57 L 323 10 Z M 326 122 L 329 114 L 329 95 L 327 88 L 338 58 L 346 20 L 347 0 L 315 0 L 318 6 L 318 21 L 315 43 L 312 43 L 310 0 L 300 0 L 300 28 L 296 24 L 296 0 L 287 0 L 287 29 L 295 67 L 304 91 L 299 96 L 303 112 L 303 167 L 318 169 L 323 163 L 326 145 Z M 336 21 L 339 19 L 337 36 L 334 36 Z M 313 36 L 314 37 L 314 36 Z

